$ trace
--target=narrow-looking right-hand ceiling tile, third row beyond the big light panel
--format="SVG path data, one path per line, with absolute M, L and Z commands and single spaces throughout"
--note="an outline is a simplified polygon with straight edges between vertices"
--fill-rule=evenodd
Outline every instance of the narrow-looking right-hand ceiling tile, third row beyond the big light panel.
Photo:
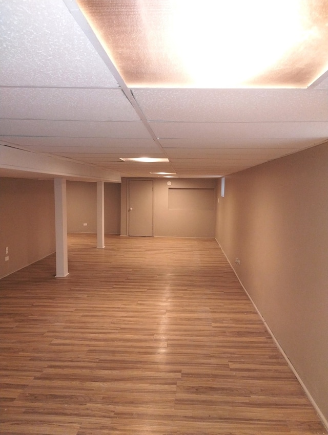
M 319 145 L 318 138 L 253 138 L 253 139 L 159 139 L 165 149 L 170 148 L 308 148 Z

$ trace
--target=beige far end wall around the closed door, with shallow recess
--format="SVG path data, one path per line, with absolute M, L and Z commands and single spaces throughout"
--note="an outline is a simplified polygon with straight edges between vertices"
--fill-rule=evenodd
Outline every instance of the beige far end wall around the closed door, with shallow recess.
M 154 236 L 214 237 L 216 182 L 199 179 L 153 179 Z M 128 183 L 122 180 L 121 234 L 128 234 Z

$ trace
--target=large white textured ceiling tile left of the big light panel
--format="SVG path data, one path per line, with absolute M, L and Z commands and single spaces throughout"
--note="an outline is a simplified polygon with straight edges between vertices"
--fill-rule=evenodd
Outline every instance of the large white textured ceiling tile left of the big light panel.
M 64 2 L 2 1 L 1 19 L 0 85 L 118 87 Z

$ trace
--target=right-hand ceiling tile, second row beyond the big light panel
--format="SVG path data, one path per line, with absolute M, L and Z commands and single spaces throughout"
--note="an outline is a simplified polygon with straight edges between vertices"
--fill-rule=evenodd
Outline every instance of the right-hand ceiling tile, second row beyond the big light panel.
M 151 122 L 158 138 L 327 138 L 328 122 Z

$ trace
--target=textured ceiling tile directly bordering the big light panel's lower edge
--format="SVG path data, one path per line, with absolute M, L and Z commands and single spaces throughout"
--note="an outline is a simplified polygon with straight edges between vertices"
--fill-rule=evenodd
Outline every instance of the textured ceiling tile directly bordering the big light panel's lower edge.
M 134 89 L 133 95 L 149 121 L 328 121 L 323 90 Z

